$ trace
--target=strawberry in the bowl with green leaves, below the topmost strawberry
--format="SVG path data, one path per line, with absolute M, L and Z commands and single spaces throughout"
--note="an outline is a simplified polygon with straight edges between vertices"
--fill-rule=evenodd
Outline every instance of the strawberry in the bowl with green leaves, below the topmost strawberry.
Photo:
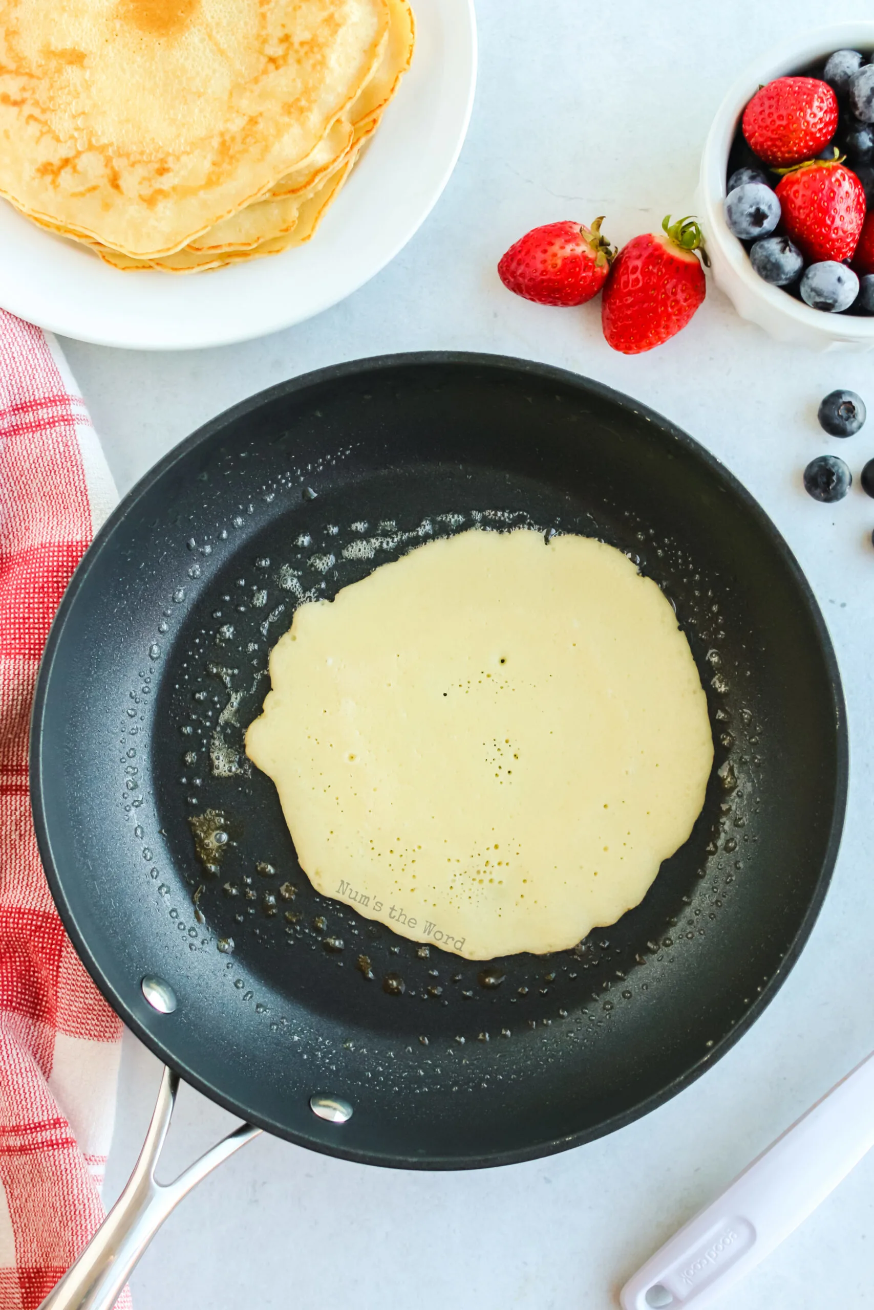
M 777 186 L 786 234 L 812 263 L 849 259 L 865 221 L 865 189 L 837 160 L 812 160 Z

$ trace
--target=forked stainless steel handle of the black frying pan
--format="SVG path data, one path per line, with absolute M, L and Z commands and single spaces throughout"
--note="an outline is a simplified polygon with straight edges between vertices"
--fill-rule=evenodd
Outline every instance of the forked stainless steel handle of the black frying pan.
M 165 1069 L 145 1142 L 124 1191 L 39 1310 L 111 1310 L 170 1210 L 200 1179 L 261 1132 L 241 1124 L 172 1183 L 156 1183 L 155 1167 L 170 1127 L 178 1086 L 178 1076 Z

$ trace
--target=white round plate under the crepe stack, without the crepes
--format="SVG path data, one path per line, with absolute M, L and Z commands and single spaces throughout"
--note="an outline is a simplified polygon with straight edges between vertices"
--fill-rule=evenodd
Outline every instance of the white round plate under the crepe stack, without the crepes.
M 358 291 L 430 214 L 470 119 L 473 0 L 413 0 L 413 66 L 311 242 L 211 272 L 121 272 L 0 200 L 0 304 L 100 346 L 187 350 L 290 328 Z

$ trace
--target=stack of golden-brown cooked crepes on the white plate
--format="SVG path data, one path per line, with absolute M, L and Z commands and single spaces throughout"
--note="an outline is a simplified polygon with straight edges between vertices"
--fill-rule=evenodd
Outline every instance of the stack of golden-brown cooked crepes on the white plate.
M 408 0 L 5 0 L 0 194 L 117 269 L 308 241 L 413 55 Z

